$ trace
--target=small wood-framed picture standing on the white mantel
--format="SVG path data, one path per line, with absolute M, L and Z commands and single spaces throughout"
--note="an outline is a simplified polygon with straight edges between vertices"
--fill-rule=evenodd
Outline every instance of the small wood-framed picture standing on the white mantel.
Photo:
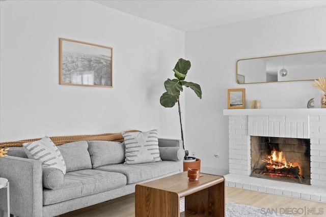
M 228 109 L 246 108 L 246 89 L 228 89 Z

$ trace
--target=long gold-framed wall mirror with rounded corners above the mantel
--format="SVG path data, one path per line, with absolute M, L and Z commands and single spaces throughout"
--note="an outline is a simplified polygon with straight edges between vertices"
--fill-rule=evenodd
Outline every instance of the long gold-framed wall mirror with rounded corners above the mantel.
M 282 78 L 282 76 L 279 75 L 279 70 L 277 70 L 275 72 L 275 66 L 274 66 L 274 68 L 273 68 L 274 69 L 274 72 L 272 72 L 272 73 L 273 73 L 274 79 L 275 79 L 275 76 L 276 76 L 277 77 L 277 80 L 267 81 L 268 74 L 270 73 L 270 72 L 268 72 L 268 69 L 267 69 L 267 61 L 270 61 L 270 63 L 273 62 L 274 64 L 276 64 L 278 62 L 278 65 L 277 66 L 278 66 L 278 69 L 279 69 L 280 68 L 280 65 L 282 66 L 282 59 L 284 58 L 285 59 L 285 64 L 283 65 L 283 68 L 285 66 L 287 66 L 288 68 L 294 68 L 294 67 L 297 67 L 297 68 L 298 67 L 305 68 L 305 67 L 308 67 L 309 65 L 287 65 L 286 61 L 287 61 L 287 59 L 289 59 L 289 61 L 292 61 L 292 63 L 294 63 L 294 61 L 295 61 L 294 59 L 297 58 L 296 61 L 299 61 L 299 63 L 302 63 L 302 61 L 300 61 L 300 59 L 302 59 L 303 57 L 307 57 L 307 61 L 308 61 L 308 59 L 310 59 L 310 60 L 313 59 L 312 57 L 315 54 L 320 54 L 320 56 L 318 57 L 318 58 L 320 58 L 319 61 L 323 61 L 324 60 L 322 62 L 322 64 L 325 65 L 324 68 L 326 69 L 326 50 L 311 51 L 311 52 L 302 52 L 302 53 L 290 53 L 290 54 L 283 54 L 283 55 L 273 55 L 273 56 L 263 56 L 263 57 L 239 59 L 236 62 L 236 76 L 235 76 L 236 77 L 236 80 L 235 81 L 238 84 L 250 84 L 250 83 L 270 83 L 270 82 L 287 82 L 287 81 L 309 81 L 309 80 L 317 79 L 318 77 L 323 76 L 326 73 L 326 71 L 320 71 L 320 72 L 316 73 L 316 75 L 314 77 L 308 78 L 308 79 L 305 78 L 305 79 L 290 79 L 290 80 L 286 80 L 285 77 Z M 254 62 L 256 60 L 257 61 L 259 61 L 259 60 L 265 61 L 265 72 L 261 76 L 261 77 L 265 76 L 265 81 L 251 82 L 252 80 L 254 80 L 254 79 L 251 79 L 250 78 L 250 74 L 249 73 L 251 73 L 251 71 L 250 72 L 246 72 L 246 73 L 244 73 L 243 71 L 241 71 L 241 69 L 239 71 L 239 63 L 241 63 L 240 61 L 245 61 L 245 60 L 253 60 L 252 62 Z M 243 64 L 243 63 L 244 62 L 242 62 L 241 64 Z M 249 62 L 247 61 L 246 64 L 248 64 L 248 63 Z M 315 64 L 314 66 L 316 66 L 316 65 L 318 65 L 318 64 Z M 321 66 L 321 67 L 323 67 L 323 66 Z M 310 74 L 311 74 L 311 72 L 310 72 Z M 292 74 L 290 74 L 290 71 L 289 71 L 288 75 L 291 75 L 293 77 L 294 76 L 293 71 L 292 71 Z M 304 75 L 304 74 L 302 74 L 302 75 Z M 307 76 L 307 75 L 308 74 L 306 74 L 304 76 Z

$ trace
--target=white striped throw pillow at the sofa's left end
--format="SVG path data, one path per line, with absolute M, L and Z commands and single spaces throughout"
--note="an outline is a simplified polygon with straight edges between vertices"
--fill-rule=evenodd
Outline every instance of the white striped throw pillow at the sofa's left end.
M 59 148 L 52 140 L 45 136 L 41 140 L 22 144 L 29 159 L 35 159 L 42 163 L 42 167 L 58 168 L 66 174 L 66 164 Z

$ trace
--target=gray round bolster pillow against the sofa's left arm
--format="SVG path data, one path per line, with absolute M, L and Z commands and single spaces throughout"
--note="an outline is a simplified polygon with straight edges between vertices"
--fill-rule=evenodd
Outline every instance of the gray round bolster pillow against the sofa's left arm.
M 47 189 L 56 189 L 64 181 L 63 172 L 53 167 L 43 167 L 43 187 Z

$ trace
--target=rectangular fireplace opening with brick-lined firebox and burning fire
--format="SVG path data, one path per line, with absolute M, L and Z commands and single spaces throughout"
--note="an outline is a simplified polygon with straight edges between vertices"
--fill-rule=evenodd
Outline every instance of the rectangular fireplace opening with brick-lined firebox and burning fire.
M 251 176 L 310 184 L 310 139 L 252 136 Z

